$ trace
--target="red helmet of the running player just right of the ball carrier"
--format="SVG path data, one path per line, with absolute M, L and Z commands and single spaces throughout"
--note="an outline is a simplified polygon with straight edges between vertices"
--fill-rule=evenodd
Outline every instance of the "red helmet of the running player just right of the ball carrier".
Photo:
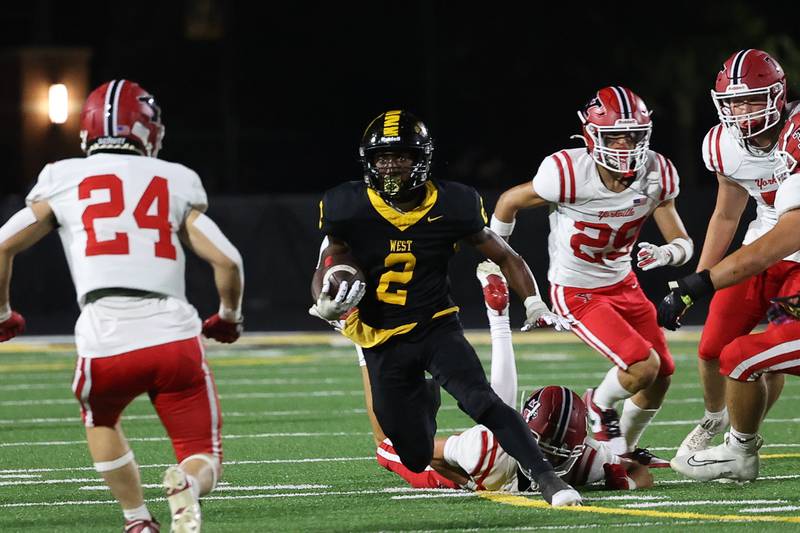
M 644 101 L 627 87 L 603 87 L 578 111 L 583 138 L 597 164 L 633 174 L 647 163 L 653 123 Z M 606 136 L 629 135 L 633 149 L 610 148 Z

